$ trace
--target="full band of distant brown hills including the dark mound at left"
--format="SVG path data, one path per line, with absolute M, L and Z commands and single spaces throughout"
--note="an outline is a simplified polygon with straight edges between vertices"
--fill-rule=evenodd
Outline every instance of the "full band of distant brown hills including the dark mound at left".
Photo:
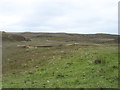
M 54 41 L 54 42 L 90 42 L 90 43 L 118 43 L 118 35 L 112 34 L 70 34 L 70 33 L 3 33 L 3 41 L 26 41 L 26 40 Z

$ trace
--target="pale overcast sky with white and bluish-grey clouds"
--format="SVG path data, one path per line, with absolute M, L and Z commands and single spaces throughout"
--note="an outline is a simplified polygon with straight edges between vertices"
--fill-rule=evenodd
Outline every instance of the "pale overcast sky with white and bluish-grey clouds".
M 119 0 L 0 0 L 0 31 L 118 33 Z

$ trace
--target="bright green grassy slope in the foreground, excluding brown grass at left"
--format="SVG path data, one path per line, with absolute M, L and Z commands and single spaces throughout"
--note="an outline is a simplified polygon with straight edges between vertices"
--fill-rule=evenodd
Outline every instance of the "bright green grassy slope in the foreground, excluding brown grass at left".
M 118 88 L 116 46 L 70 46 L 32 52 L 40 50 L 44 54 L 34 59 L 40 61 L 40 55 L 46 55 L 46 64 L 4 74 L 3 88 Z

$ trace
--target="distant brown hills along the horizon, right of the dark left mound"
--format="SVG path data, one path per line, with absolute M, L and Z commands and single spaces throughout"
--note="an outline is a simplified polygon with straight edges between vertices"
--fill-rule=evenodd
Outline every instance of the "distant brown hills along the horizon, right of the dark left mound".
M 117 43 L 118 35 L 112 34 L 70 34 L 70 33 L 19 33 L 27 38 L 37 38 L 41 41 L 51 40 L 59 42 L 91 42 L 91 43 Z

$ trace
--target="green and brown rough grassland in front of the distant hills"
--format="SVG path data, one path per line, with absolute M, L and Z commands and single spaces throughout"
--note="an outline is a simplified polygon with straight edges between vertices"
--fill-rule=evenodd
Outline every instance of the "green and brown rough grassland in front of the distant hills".
M 3 88 L 118 88 L 117 44 L 3 44 Z

